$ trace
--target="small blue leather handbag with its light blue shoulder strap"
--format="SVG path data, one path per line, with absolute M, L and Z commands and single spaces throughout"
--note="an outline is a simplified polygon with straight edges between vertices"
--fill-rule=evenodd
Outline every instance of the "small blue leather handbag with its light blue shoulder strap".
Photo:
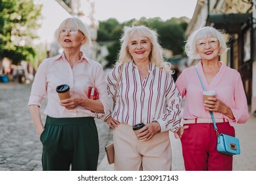
M 195 70 L 197 72 L 197 76 L 201 82 L 203 90 L 205 91 L 205 85 L 197 71 L 197 66 L 195 66 Z M 217 134 L 217 150 L 223 154 L 233 155 L 233 154 L 240 154 L 240 143 L 239 139 L 236 137 L 232 137 L 230 135 L 226 135 L 224 133 L 218 133 L 218 128 L 215 122 L 215 117 L 213 116 L 213 112 L 210 111 L 211 118 L 213 120 L 213 126 L 215 128 Z

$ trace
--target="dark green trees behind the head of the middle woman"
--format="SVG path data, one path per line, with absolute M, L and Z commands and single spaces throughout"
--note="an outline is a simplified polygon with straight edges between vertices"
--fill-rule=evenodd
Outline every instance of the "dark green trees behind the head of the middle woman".
M 170 18 L 166 21 L 159 17 L 149 19 L 142 17 L 140 20 L 132 19 L 120 24 L 115 18 L 110 18 L 99 22 L 97 41 L 99 43 L 109 42 L 107 47 L 109 49 L 107 56 L 109 64 L 107 66 L 113 66 L 120 49 L 120 37 L 124 26 L 145 25 L 157 31 L 159 43 L 164 49 L 172 51 L 174 55 L 182 55 L 184 54 L 184 41 L 186 40 L 184 35 L 188 22 L 189 19 L 186 17 Z

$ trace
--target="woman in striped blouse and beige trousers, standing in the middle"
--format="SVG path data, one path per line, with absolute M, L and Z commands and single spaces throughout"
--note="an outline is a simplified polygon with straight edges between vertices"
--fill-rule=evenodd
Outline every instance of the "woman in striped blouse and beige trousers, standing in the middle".
M 164 62 L 157 33 L 145 26 L 125 27 L 119 63 L 107 75 L 113 97 L 118 83 L 116 105 L 107 113 L 114 129 L 115 170 L 171 170 L 168 131 L 180 127 L 180 93 Z M 138 137 L 132 127 L 143 123 Z

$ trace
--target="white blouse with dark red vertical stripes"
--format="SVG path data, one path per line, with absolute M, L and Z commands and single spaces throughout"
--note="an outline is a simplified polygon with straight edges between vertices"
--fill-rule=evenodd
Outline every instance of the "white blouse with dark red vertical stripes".
M 119 72 L 120 66 L 116 66 L 106 76 L 107 89 L 112 98 Z M 130 126 L 157 121 L 161 132 L 174 132 L 180 127 L 180 109 L 181 95 L 171 74 L 151 63 L 149 74 L 142 80 L 139 68 L 131 61 L 124 64 L 115 109 L 105 117 L 112 115 L 118 122 Z

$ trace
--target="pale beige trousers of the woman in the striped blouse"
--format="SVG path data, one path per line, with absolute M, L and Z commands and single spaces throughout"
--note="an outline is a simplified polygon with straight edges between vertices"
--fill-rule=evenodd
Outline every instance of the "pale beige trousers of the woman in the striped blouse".
M 149 141 L 140 141 L 132 126 L 120 124 L 113 131 L 115 170 L 170 171 L 172 150 L 168 131 L 157 133 Z

